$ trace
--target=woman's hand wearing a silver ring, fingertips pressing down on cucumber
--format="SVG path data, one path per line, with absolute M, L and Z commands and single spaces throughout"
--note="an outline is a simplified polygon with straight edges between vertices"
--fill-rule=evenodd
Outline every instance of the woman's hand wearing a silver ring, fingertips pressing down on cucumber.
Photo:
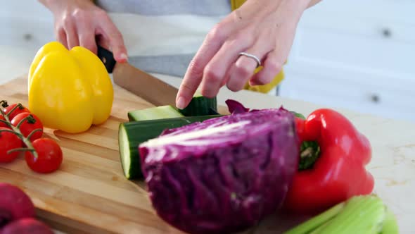
M 315 0 L 248 0 L 218 23 L 191 61 L 177 94 L 179 109 L 186 107 L 200 85 L 205 97 L 215 97 L 226 85 L 234 92 L 246 82 L 264 85 L 279 73 L 293 44 L 303 11 Z M 257 68 L 253 54 L 263 66 Z

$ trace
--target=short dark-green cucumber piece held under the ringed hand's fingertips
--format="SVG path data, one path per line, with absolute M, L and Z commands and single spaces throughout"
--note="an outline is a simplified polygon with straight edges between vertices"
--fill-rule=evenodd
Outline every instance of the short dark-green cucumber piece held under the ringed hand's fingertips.
M 210 116 L 217 114 L 217 98 L 203 97 L 200 92 L 193 95 L 188 106 L 179 109 L 184 116 Z

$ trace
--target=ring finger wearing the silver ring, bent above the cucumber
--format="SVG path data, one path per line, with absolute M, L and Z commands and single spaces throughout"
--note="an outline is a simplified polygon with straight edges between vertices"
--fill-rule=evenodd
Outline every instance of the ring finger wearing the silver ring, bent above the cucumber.
M 247 49 L 245 53 L 256 56 L 260 61 L 267 55 L 270 47 L 262 41 L 255 42 L 254 46 Z M 241 55 L 236 60 L 236 63 L 231 66 L 230 77 L 226 82 L 226 87 L 231 91 L 242 90 L 246 82 L 253 77 L 255 68 L 257 68 L 257 61 L 255 58 Z

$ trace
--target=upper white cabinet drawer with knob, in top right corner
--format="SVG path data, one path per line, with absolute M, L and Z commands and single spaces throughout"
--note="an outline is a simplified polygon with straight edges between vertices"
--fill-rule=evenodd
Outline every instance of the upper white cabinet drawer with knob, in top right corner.
M 414 12 L 415 1 L 321 1 L 300 20 L 294 56 L 331 66 L 414 74 Z

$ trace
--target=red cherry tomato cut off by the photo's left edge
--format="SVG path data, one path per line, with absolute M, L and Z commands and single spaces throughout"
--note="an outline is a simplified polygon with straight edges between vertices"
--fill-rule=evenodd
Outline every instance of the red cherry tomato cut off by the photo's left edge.
M 1 130 L 10 130 L 8 128 L 0 128 Z M 20 138 L 14 133 L 0 132 L 0 163 L 10 163 L 18 157 L 19 152 L 7 152 L 11 149 L 20 148 L 22 146 Z

